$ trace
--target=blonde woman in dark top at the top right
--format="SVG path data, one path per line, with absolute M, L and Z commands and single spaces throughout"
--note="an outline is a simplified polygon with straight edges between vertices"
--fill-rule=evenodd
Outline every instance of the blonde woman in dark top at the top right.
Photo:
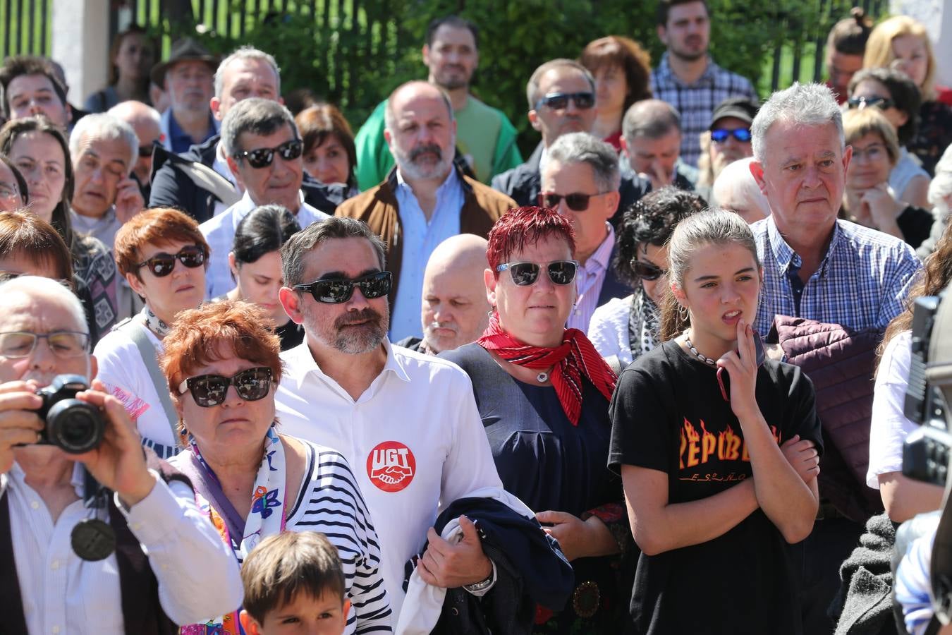
M 907 15 L 883 21 L 869 34 L 863 68 L 902 70 L 919 87 L 920 125 L 907 147 L 920 158 L 922 168 L 934 174 L 939 157 L 952 143 L 952 89 L 936 86 L 937 61 L 925 27 Z

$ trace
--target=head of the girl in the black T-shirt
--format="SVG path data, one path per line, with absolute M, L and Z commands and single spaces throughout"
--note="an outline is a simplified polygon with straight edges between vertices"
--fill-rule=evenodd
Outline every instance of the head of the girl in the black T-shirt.
M 705 209 L 688 216 L 674 228 L 667 248 L 670 291 L 662 308 L 663 340 L 688 326 L 736 339 L 731 324 L 738 310 L 740 319 L 753 324 L 761 262 L 754 234 L 739 214 Z

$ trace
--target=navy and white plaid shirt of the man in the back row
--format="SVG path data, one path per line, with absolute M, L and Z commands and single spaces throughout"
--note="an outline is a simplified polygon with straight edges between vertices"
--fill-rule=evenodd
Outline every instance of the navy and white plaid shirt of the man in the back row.
M 681 160 L 697 167 L 701 156 L 701 133 L 711 125 L 711 114 L 727 97 L 757 100 L 750 81 L 737 73 L 724 70 L 709 57 L 704 74 L 694 84 L 685 84 L 674 74 L 667 61 L 651 71 L 651 91 L 681 113 Z

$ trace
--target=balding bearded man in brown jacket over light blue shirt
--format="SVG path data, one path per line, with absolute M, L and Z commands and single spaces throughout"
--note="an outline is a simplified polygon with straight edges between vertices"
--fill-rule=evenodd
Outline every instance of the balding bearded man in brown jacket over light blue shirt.
M 390 338 L 420 337 L 426 261 L 458 233 L 486 237 L 512 200 L 471 179 L 453 163 L 456 121 L 443 90 L 407 82 L 387 100 L 384 137 L 397 168 L 376 188 L 348 199 L 337 216 L 364 221 L 387 244 L 393 272 Z

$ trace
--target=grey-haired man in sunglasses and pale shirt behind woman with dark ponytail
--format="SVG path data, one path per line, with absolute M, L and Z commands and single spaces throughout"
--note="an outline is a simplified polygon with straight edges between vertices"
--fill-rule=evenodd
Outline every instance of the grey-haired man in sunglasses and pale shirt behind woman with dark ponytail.
M 297 217 L 302 228 L 328 218 L 326 213 L 304 202 L 304 143 L 287 108 L 258 97 L 239 102 L 228 110 L 222 122 L 221 145 L 228 158 L 228 169 L 245 195 L 222 214 L 202 223 L 202 233 L 211 248 L 206 274 L 208 298 L 235 288 L 228 252 L 238 223 L 252 209 L 283 206 Z

